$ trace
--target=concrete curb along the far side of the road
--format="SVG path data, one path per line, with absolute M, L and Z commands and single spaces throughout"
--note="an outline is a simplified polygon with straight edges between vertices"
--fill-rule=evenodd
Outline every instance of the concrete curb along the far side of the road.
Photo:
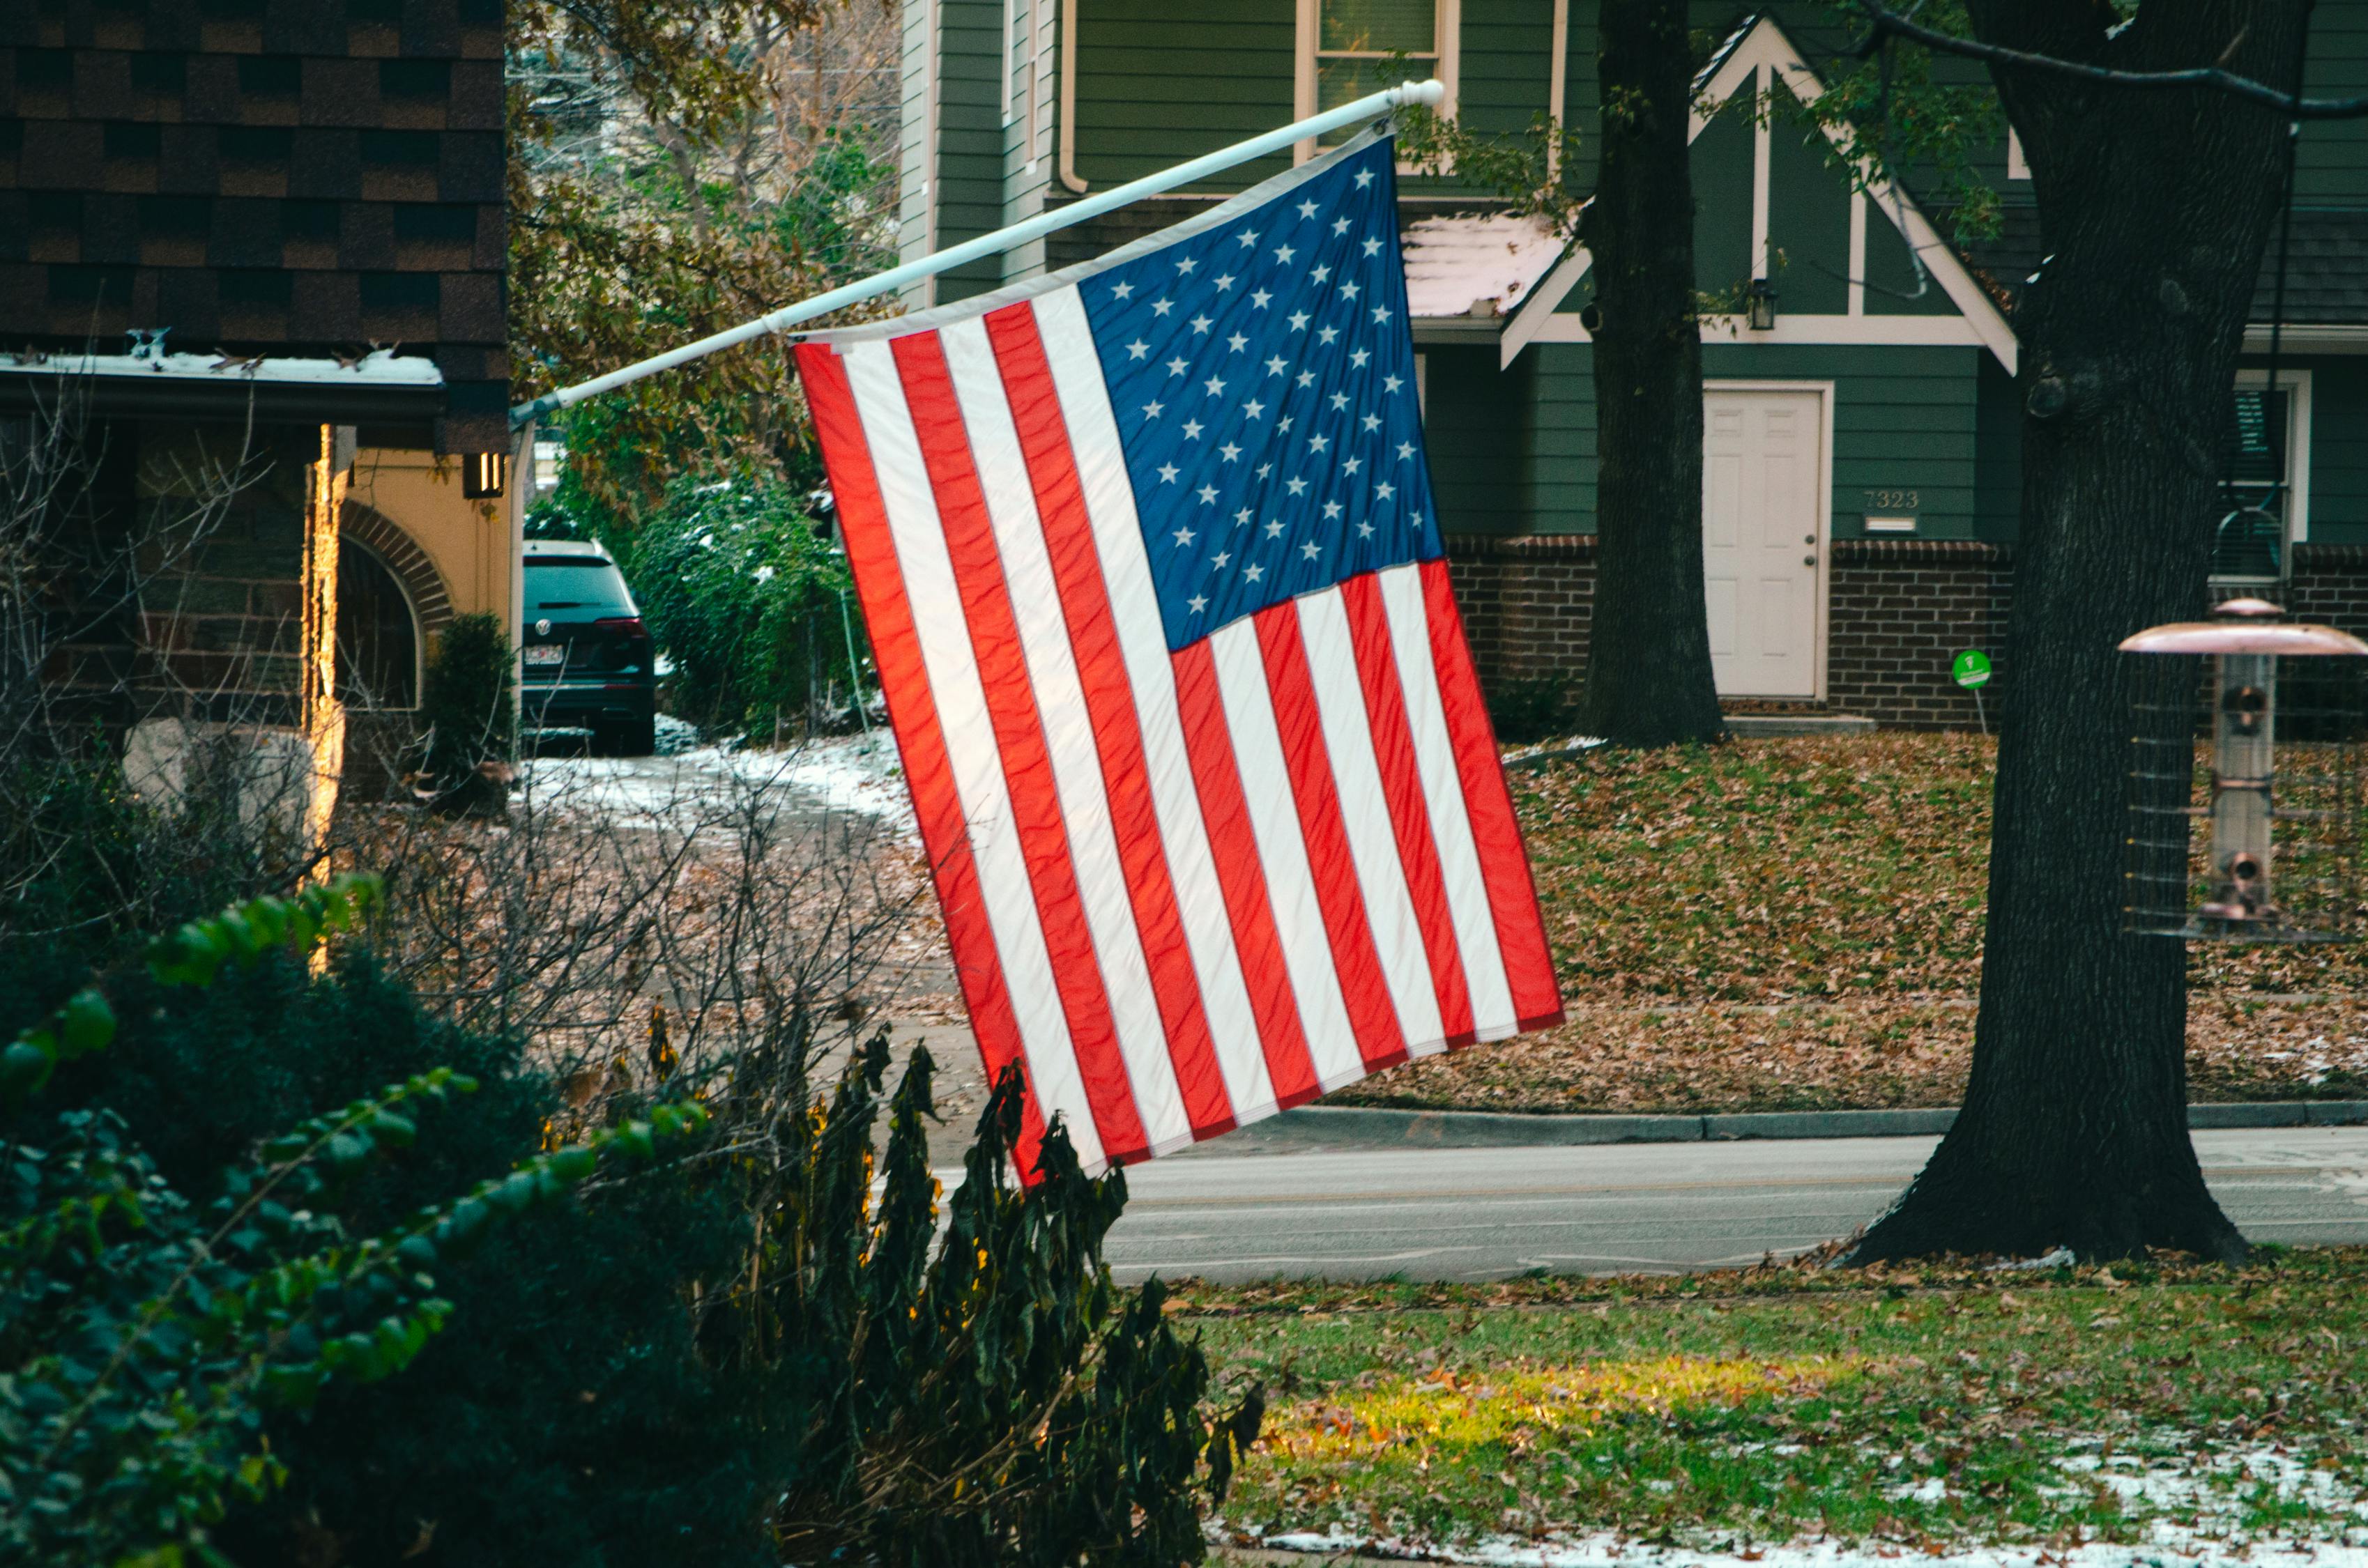
M 1700 1144 L 1745 1137 L 1932 1137 L 1956 1106 L 1906 1111 L 1745 1111 L 1733 1116 L 1518 1116 L 1506 1111 L 1392 1111 L 1300 1106 L 1224 1139 L 1234 1151 L 1317 1149 L 1534 1149 L 1549 1144 Z M 2368 1099 L 2280 1099 L 2188 1106 L 2190 1127 L 2351 1127 Z

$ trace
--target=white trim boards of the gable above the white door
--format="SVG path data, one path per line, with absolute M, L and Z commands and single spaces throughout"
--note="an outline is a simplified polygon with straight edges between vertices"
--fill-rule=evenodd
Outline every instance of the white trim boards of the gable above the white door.
M 1314 5 L 1314 0 L 1302 0 L 1302 5 Z M 1745 88 L 1752 88 L 1755 92 L 1767 90 L 1778 76 L 1783 78 L 1783 85 L 1793 92 L 1793 97 L 1797 97 L 1804 104 L 1816 102 L 1826 92 L 1826 85 L 1809 69 L 1809 62 L 1793 45 L 1785 31 L 1776 26 L 1774 19 L 1759 17 L 1757 21 L 1752 21 L 1750 28 L 1743 28 L 1738 36 L 1729 38 L 1719 47 L 1719 52 L 1712 54 L 1710 66 L 1705 66 L 1703 73 L 1695 78 L 1693 118 L 1686 140 L 1691 142 L 1693 137 L 1703 135 L 1703 128 L 1710 123 L 1710 116 L 1724 109 L 1736 92 L 1743 92 Z M 1769 249 L 1767 168 L 1769 168 L 1771 135 L 1774 128 L 1767 123 L 1767 116 L 1759 116 L 1752 130 L 1752 277 L 1767 277 L 1767 249 Z M 1842 133 L 1830 126 L 1826 128 L 1826 137 L 1835 147 L 1842 144 Z M 1790 317 L 1819 324 L 1807 329 L 1795 329 L 1788 334 L 1785 332 L 1788 317 L 1778 310 L 1776 332 L 1745 332 L 1736 341 L 1750 341 L 1750 343 L 1973 341 L 1982 348 L 1989 348 L 1989 353 L 1999 358 L 1999 365 L 2006 367 L 2006 374 L 2015 374 L 2020 346 L 2015 343 L 2013 327 L 2006 324 L 2006 317 L 1999 313 L 1999 306 L 1991 303 L 1989 294 L 1982 291 L 1982 284 L 1973 279 L 1973 272 L 1965 270 L 1965 263 L 1958 261 L 1956 251 L 1942 242 L 1939 232 L 1923 216 L 1923 208 L 1918 208 L 1906 192 L 1894 189 L 1892 182 L 1885 180 L 1873 166 L 1861 166 L 1859 175 L 1864 182 L 1864 192 L 1859 189 L 1852 192 L 1852 213 L 1849 213 L 1852 218 L 1849 315 Z M 1864 287 L 1866 206 L 1873 206 L 1878 213 L 1883 213 L 1883 220 L 1890 223 L 1894 230 L 1899 230 L 1899 237 L 1906 239 L 1918 256 L 1923 256 L 1925 270 L 1932 275 L 1932 282 L 1939 284 L 1942 294 L 1949 296 L 1949 303 L 1956 306 L 1958 310 L 1956 317 L 1866 315 L 1866 287 Z M 1587 272 L 1587 251 L 1575 251 L 1568 261 L 1563 261 L 1553 272 L 1546 275 L 1546 282 L 1523 303 L 1520 310 L 1513 313 L 1513 320 L 1508 322 L 1504 334 L 1504 348 L 1499 353 L 1501 365 L 1511 365 L 1513 355 L 1520 353 L 1523 343 L 1589 341 L 1587 332 L 1577 324 L 1577 317 L 1530 320 L 1532 313 L 1551 317 L 1556 306 L 1570 294 L 1572 284 L 1577 284 L 1579 277 L 1584 277 L 1584 272 Z M 1570 324 L 1565 327 L 1563 320 L 1568 320 Z M 1845 329 L 1830 327 L 1826 322 L 1845 322 L 1845 320 L 1868 322 L 1868 327 L 1864 329 L 1859 327 L 1847 329 L 1852 334 L 1866 332 L 1868 336 L 1833 336 L 1835 332 Z M 1937 329 L 1930 327 L 1930 322 L 1944 322 L 1944 320 L 1961 320 L 1963 332 L 1954 332 L 1951 336 L 1892 336 L 1894 332 L 1935 334 Z M 1717 317 L 1712 322 L 1703 322 L 1705 339 L 1712 332 L 1714 322 Z M 1885 324 L 1875 327 L 1873 322 L 1885 322 Z M 1920 327 L 1890 327 L 1890 322 L 1918 322 Z M 1800 332 L 1812 332 L 1816 336 L 1800 336 Z M 2361 346 L 2368 348 L 2368 341 L 2363 341 Z

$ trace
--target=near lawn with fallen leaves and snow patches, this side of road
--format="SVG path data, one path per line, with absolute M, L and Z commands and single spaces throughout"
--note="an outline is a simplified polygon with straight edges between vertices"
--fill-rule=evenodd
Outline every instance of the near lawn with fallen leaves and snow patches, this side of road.
M 2266 1248 L 2242 1270 L 1186 1286 L 1175 1310 L 1224 1386 L 1269 1400 L 1212 1516 L 1238 1544 L 2063 1547 L 2359 1537 L 2363 1286 L 2368 1251 Z

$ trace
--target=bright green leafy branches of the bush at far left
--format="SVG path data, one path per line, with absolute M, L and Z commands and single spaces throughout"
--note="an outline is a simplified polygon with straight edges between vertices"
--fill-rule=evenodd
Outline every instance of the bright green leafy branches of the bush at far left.
M 301 1118 L 237 1149 L 211 1199 L 159 1170 L 118 1108 L 47 1099 L 62 1066 L 107 1061 L 182 992 L 294 966 L 377 886 L 348 876 L 189 921 L 0 1049 L 0 1559 L 211 1559 L 227 1506 L 287 1476 L 270 1412 L 403 1371 L 452 1315 L 431 1270 L 590 1175 L 613 1180 L 611 1149 L 649 1153 L 654 1135 L 703 1123 L 661 1106 L 365 1234 L 341 1189 L 417 1139 L 422 1106 L 474 1092 L 469 1075 L 429 1068 Z M 135 1021 L 123 1042 L 118 1007 Z

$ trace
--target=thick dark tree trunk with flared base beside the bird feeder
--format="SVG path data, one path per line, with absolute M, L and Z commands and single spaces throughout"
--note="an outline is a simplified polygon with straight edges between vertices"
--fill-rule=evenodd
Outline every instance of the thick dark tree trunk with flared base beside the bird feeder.
M 2299 85 L 2306 0 L 1973 0 L 1975 33 L 2131 71 Z M 2186 945 L 2122 933 L 2129 703 L 2186 661 L 2115 644 L 2205 609 L 2219 438 L 2285 175 L 2285 123 L 2209 92 L 1999 71 L 2044 253 L 2022 343 L 2013 692 L 1965 1111 L 1857 1260 L 2240 1258 L 2186 1120 Z

